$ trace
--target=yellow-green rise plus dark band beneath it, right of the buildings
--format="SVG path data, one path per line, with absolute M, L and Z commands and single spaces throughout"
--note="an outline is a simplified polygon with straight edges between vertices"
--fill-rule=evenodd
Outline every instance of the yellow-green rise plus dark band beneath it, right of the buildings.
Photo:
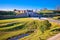
M 55 17 L 60 16 L 60 11 L 58 10 L 41 10 L 38 14 L 42 14 L 43 17 Z

